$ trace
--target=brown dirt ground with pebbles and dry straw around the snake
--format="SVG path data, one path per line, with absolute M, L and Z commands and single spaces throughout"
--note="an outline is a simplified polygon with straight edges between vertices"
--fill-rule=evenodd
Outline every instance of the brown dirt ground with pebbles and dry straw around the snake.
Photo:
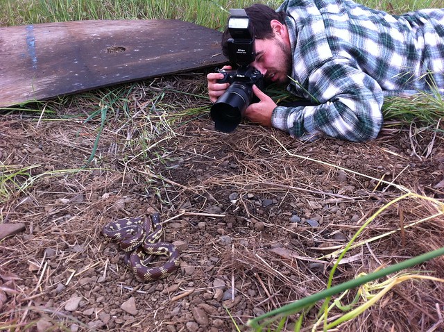
M 345 255 L 333 285 L 444 247 L 436 204 L 444 199 L 442 132 L 386 125 L 360 144 L 298 142 L 247 123 L 223 134 L 206 113 L 179 117 L 185 105 L 208 103 L 193 95 L 205 91 L 205 76 L 184 79 L 145 82 L 128 93 L 128 110 L 108 110 L 89 165 L 101 119 L 85 122 L 92 108 L 80 97 L 57 115 L 1 116 L 0 220 L 25 229 L 0 242 L 0 328 L 216 332 L 237 324 L 248 331 L 248 319 L 325 289 L 337 258 L 328 254 L 409 191 L 432 200 L 385 208 Z M 185 86 L 190 94 L 171 92 Z M 162 101 L 153 97 L 159 92 Z M 101 231 L 153 211 L 165 240 L 180 249 L 180 268 L 141 282 Z M 409 272 L 444 278 L 444 260 Z M 444 331 L 443 290 L 438 281 L 404 281 L 332 331 Z M 340 314 L 335 308 L 329 317 Z

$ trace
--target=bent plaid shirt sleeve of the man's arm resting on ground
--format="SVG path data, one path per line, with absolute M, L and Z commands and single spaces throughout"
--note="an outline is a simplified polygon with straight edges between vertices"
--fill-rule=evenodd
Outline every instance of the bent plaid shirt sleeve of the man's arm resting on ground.
M 323 134 L 364 142 L 375 139 L 382 127 L 382 89 L 348 59 L 325 62 L 309 74 L 306 83 L 293 82 L 289 90 L 318 103 L 273 110 L 273 127 L 294 138 L 313 139 Z

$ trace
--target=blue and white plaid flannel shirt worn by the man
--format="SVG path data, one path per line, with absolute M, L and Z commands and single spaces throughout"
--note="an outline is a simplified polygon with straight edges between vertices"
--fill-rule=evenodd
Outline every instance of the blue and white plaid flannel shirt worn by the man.
M 317 106 L 273 110 L 295 138 L 377 137 L 384 97 L 444 92 L 444 9 L 389 15 L 350 0 L 286 0 L 293 56 L 289 92 Z

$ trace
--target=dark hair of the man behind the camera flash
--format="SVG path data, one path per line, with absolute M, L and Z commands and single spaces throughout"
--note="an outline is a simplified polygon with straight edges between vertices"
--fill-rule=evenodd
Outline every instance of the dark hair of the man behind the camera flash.
M 250 24 L 253 25 L 253 31 L 255 32 L 255 38 L 267 39 L 273 38 L 273 28 L 271 28 L 270 22 L 273 19 L 277 19 L 282 24 L 285 24 L 284 12 L 276 12 L 273 8 L 262 5 L 261 3 L 255 3 L 254 5 L 245 8 L 245 11 L 250 19 Z M 222 53 L 228 58 L 228 39 L 231 38 L 228 28 L 222 35 Z

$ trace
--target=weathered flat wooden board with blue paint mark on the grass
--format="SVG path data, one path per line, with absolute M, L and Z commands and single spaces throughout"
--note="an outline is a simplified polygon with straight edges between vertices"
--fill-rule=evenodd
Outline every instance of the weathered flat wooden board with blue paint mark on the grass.
M 178 20 L 0 28 L 0 107 L 226 63 L 221 33 Z

